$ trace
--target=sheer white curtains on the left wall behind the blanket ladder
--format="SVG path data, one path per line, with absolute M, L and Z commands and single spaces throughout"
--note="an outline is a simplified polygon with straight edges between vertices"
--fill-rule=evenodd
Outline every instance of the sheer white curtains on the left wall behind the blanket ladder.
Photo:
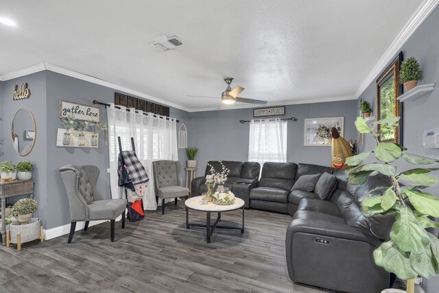
M 115 108 L 110 104 L 108 115 L 108 145 L 110 154 L 110 184 L 112 198 L 123 198 L 123 189 L 117 186 L 117 159 L 121 137 L 122 150 L 132 150 L 134 138 L 136 154 L 150 178 L 148 192 L 143 196 L 143 209 L 157 209 L 154 194 L 154 174 L 152 162 L 157 160 L 178 160 L 176 119 L 143 113 L 141 110 L 123 106 Z M 156 116 L 156 117 L 154 117 Z

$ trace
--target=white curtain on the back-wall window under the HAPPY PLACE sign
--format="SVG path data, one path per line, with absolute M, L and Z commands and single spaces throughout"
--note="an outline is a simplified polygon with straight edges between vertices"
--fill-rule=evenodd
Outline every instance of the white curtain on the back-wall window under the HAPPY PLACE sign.
M 286 162 L 287 161 L 287 121 L 265 119 L 250 121 L 248 141 L 248 161 Z

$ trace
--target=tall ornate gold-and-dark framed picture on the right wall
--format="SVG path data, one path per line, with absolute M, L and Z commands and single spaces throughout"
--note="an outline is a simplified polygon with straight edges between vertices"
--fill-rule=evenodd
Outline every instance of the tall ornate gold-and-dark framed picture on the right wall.
M 399 67 L 403 61 L 403 52 L 392 61 L 388 68 L 377 79 L 377 121 L 390 117 L 401 117 L 399 127 L 386 130 L 378 137 L 379 141 L 400 143 L 403 142 L 403 104 L 397 99 L 403 91 L 399 84 Z M 379 124 L 377 130 L 379 130 Z

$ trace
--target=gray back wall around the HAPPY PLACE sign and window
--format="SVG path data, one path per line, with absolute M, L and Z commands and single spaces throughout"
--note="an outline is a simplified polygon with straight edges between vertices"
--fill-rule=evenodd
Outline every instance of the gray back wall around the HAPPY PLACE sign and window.
M 286 106 L 282 117 L 297 118 L 288 121 L 287 161 L 331 165 L 331 147 L 303 145 L 304 119 L 344 117 L 344 138 L 357 139 L 353 126 L 357 113 L 356 100 Z M 252 108 L 191 113 L 190 117 L 188 145 L 200 149 L 195 158 L 198 176 L 204 174 L 208 161 L 247 161 L 250 126 L 239 120 L 257 119 Z

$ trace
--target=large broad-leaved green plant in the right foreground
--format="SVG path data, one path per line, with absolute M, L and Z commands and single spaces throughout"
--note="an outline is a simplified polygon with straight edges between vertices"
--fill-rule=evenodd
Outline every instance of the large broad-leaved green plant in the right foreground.
M 381 126 L 378 132 L 374 124 Z M 357 117 L 355 126 L 360 133 L 372 134 L 377 146 L 370 152 L 364 152 L 346 159 L 348 182 L 362 185 L 370 176 L 381 174 L 388 176 L 392 182 L 390 187 L 379 187 L 361 200 L 362 210 L 366 217 L 377 214 L 394 213 L 395 222 L 390 231 L 390 240 L 377 248 L 373 257 L 378 266 L 403 280 L 423 277 L 428 279 L 439 273 L 439 240 L 426 228 L 439 228 L 439 223 L 431 218 L 439 218 L 439 200 L 433 194 L 424 191 L 434 185 L 436 177 L 428 175 L 438 167 L 414 167 L 396 173 L 392 163 L 398 159 L 412 165 L 434 165 L 437 159 L 407 152 L 398 143 L 380 143 L 379 135 L 399 124 L 399 117 L 376 121 L 369 126 L 361 117 Z M 359 165 L 371 154 L 377 163 Z M 405 185 L 401 184 L 401 181 Z M 381 196 L 378 196 L 382 193 Z M 408 204 L 410 202 L 410 204 Z

